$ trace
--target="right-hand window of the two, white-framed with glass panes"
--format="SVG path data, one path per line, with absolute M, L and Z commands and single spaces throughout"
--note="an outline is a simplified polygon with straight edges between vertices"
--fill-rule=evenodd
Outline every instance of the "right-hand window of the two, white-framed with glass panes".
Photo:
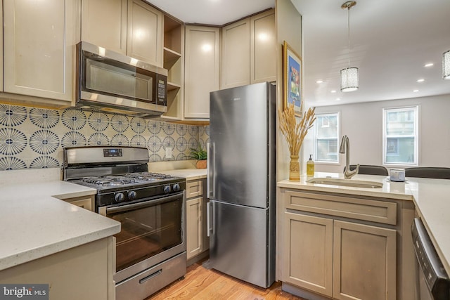
M 418 164 L 418 106 L 383 109 L 383 163 Z

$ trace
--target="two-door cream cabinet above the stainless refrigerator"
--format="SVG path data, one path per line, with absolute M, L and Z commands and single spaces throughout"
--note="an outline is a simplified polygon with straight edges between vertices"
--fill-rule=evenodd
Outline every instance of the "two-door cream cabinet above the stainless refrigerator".
M 221 28 L 221 89 L 275 81 L 273 9 Z

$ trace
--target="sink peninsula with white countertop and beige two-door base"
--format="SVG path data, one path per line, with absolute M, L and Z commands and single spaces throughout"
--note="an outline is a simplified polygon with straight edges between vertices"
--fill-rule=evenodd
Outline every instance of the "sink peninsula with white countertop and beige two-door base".
M 314 177 L 343 174 L 316 172 Z M 364 292 L 381 291 L 380 299 L 413 299 L 414 216 L 422 219 L 450 273 L 448 181 L 406 178 L 399 183 L 386 176 L 356 175 L 349 181 L 383 187 L 352 188 L 307 183 L 309 179 L 278 182 L 278 280 L 287 292 L 347 299 L 352 293 L 361 298 Z M 308 261 L 314 270 L 307 268 Z M 362 291 L 366 282 L 369 290 Z

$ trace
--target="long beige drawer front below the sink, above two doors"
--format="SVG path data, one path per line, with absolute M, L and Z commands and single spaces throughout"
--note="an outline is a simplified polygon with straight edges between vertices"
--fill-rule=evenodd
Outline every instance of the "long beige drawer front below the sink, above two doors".
M 338 195 L 286 191 L 286 208 L 342 216 L 377 223 L 397 224 L 397 203 Z

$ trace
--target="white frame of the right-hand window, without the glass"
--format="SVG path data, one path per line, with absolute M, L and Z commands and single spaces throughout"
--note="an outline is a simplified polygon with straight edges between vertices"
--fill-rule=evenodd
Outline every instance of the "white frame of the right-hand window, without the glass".
M 383 159 L 383 165 L 386 166 L 418 166 L 419 163 L 419 131 L 418 131 L 418 122 L 419 122 L 419 105 L 411 105 L 411 106 L 404 106 L 404 107 L 384 107 L 383 108 L 383 151 L 382 151 L 382 159 Z M 405 112 L 405 111 L 414 111 L 414 118 L 411 120 L 411 117 L 408 117 L 406 121 L 412 121 L 413 122 L 413 134 L 406 135 L 406 136 L 388 136 L 387 135 L 387 113 L 388 112 Z M 397 117 L 398 119 L 398 117 Z M 414 138 L 414 160 L 413 162 L 387 162 L 387 157 L 393 154 L 399 154 L 399 139 L 400 138 L 408 138 L 412 137 Z M 387 145 L 388 139 L 395 140 L 397 139 L 397 143 L 392 144 L 392 151 L 391 153 L 387 151 Z

